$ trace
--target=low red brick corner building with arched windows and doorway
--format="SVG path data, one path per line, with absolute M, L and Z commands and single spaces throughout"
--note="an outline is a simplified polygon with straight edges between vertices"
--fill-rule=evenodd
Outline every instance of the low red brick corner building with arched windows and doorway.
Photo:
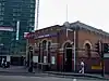
M 34 63 L 50 65 L 51 70 L 77 71 L 83 59 L 86 72 L 100 71 L 100 55 L 95 52 L 95 43 L 99 40 L 109 43 L 109 33 L 80 22 L 66 24 L 28 33 L 27 49 L 34 49 Z M 105 54 L 107 72 L 108 62 L 109 54 Z

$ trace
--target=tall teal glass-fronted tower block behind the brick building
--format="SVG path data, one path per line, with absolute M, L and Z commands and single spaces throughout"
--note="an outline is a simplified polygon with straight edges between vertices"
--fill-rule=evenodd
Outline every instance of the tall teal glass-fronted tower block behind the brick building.
M 0 57 L 17 64 L 25 56 L 24 32 L 34 29 L 36 0 L 0 0 Z M 16 40 L 19 22 L 19 40 Z M 2 29 L 3 28 L 3 29 Z M 4 30 L 11 28 L 12 31 Z M 7 53 L 2 53 L 7 52 Z M 15 62 L 16 60 L 16 62 Z M 14 62 L 14 63 L 13 63 Z

